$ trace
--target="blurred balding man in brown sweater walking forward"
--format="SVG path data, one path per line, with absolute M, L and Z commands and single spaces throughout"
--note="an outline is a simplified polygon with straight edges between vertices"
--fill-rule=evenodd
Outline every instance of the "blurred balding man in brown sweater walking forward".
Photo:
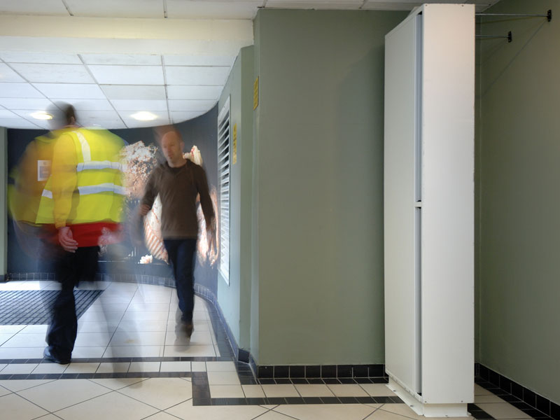
M 214 241 L 216 221 L 202 167 L 183 157 L 183 140 L 176 131 L 165 133 L 161 148 L 166 162 L 154 169 L 146 183 L 140 206 L 141 216 L 150 211 L 159 194 L 162 202 L 162 237 L 173 266 L 181 321 L 187 335 L 193 333 L 194 256 L 197 244 L 197 195 L 207 225 L 207 237 Z

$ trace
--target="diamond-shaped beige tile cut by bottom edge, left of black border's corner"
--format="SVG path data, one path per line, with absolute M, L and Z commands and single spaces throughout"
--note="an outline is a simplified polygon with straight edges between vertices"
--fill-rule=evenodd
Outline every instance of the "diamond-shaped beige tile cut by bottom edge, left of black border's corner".
M 140 420 L 158 412 L 157 408 L 117 392 L 107 393 L 57 412 L 64 420 Z

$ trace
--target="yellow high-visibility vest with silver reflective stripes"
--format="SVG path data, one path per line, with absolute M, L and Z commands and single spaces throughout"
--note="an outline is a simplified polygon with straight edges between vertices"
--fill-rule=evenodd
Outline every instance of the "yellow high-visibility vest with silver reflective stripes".
M 120 151 L 123 140 L 106 130 L 77 129 L 63 135 L 71 136 L 76 153 L 77 165 L 71 168 L 76 176 L 76 187 L 71 195 L 54 194 L 57 191 L 57 167 L 53 157 L 53 167 L 41 197 L 37 211 L 36 223 L 76 225 L 78 223 L 95 223 L 102 221 L 123 221 L 123 203 L 126 189 L 123 186 L 123 167 L 120 163 Z M 63 151 L 74 153 L 74 151 Z M 55 146 L 55 154 L 57 148 Z M 75 170 L 75 174 L 73 171 Z M 60 220 L 55 211 L 55 200 L 66 200 L 68 207 L 64 220 Z

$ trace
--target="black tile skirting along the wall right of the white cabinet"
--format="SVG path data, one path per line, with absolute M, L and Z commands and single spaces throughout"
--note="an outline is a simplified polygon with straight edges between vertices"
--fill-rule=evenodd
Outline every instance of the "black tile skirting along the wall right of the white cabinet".
M 535 419 L 560 420 L 560 405 L 491 370 L 475 363 L 475 383 L 499 395 L 514 407 Z

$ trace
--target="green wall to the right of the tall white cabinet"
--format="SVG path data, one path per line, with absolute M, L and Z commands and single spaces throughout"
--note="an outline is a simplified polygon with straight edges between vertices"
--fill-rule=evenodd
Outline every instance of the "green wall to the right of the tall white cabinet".
M 560 403 L 560 1 L 488 11 L 548 9 L 479 25 L 477 360 Z

